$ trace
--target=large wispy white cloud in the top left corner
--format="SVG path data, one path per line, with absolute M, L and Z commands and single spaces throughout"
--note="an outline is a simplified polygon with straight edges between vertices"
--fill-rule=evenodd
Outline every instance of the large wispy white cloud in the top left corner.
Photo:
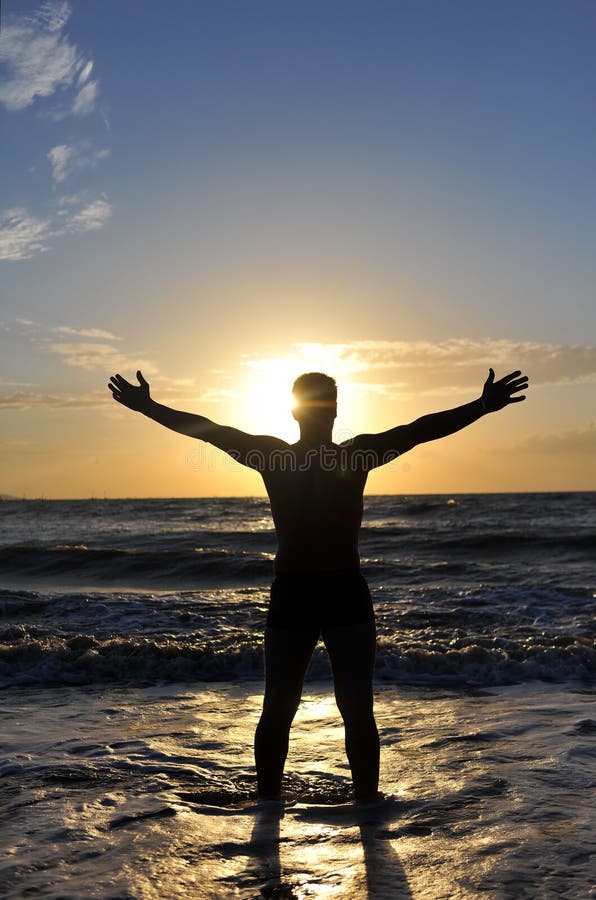
M 38 98 L 51 97 L 77 78 L 82 87 L 71 112 L 80 115 L 93 108 L 97 82 L 91 82 L 92 90 L 87 82 L 93 64 L 64 32 L 70 14 L 68 3 L 48 0 L 37 11 L 7 19 L 0 34 L 0 62 L 7 72 L 0 83 L 0 103 L 8 110 L 25 109 Z M 83 98 L 82 91 L 86 91 Z

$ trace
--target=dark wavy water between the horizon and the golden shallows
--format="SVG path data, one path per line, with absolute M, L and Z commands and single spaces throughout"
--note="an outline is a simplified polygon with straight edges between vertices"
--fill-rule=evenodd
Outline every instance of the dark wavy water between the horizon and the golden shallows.
M 592 679 L 595 513 L 592 492 L 366 497 L 377 678 Z M 2 501 L 0 685 L 260 678 L 274 554 L 261 498 Z

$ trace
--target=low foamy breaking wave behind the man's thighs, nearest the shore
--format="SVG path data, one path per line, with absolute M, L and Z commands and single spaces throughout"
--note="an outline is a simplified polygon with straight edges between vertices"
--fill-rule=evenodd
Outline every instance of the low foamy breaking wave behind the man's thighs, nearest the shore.
M 0 687 L 29 684 L 160 683 L 262 678 L 262 636 L 229 639 L 227 645 L 196 635 L 68 638 L 6 635 L 0 644 Z M 380 638 L 376 678 L 400 684 L 490 686 L 542 679 L 562 682 L 596 677 L 596 650 L 588 642 L 507 642 L 470 638 L 445 647 L 414 641 L 397 647 Z M 315 650 L 309 680 L 329 680 L 324 649 Z

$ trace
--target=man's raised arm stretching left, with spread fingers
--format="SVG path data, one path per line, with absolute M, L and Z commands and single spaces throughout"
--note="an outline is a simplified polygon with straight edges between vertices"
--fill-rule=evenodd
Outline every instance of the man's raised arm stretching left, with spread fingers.
M 161 403 L 156 403 L 149 393 L 149 384 L 142 372 L 137 372 L 139 385 L 130 384 L 122 375 L 113 375 L 108 384 L 114 400 L 128 409 L 134 409 L 143 413 L 154 422 L 185 434 L 188 437 L 207 441 L 225 450 L 234 459 L 251 468 L 260 468 L 261 456 L 276 448 L 287 447 L 287 443 L 281 438 L 271 435 L 254 435 L 240 431 L 238 428 L 230 428 L 227 425 L 218 425 L 205 416 L 194 413 L 182 412 L 172 409 Z

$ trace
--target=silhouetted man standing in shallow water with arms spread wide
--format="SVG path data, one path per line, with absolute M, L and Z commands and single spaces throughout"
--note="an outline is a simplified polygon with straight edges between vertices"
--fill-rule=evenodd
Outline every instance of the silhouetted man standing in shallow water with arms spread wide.
M 304 675 L 322 636 L 333 671 L 346 753 L 357 802 L 377 799 L 379 735 L 373 714 L 375 620 L 360 572 L 358 531 L 368 473 L 417 444 L 460 431 L 481 416 L 524 396 L 528 379 L 512 372 L 494 380 L 489 369 L 482 395 L 471 403 L 422 416 L 378 434 L 334 444 L 337 388 L 319 372 L 293 387 L 300 439 L 288 444 L 162 406 L 137 372 L 139 386 L 121 375 L 108 385 L 114 399 L 166 428 L 207 441 L 259 471 L 271 502 L 278 550 L 265 628 L 265 697 L 255 735 L 258 793 L 278 798 L 290 727 Z

